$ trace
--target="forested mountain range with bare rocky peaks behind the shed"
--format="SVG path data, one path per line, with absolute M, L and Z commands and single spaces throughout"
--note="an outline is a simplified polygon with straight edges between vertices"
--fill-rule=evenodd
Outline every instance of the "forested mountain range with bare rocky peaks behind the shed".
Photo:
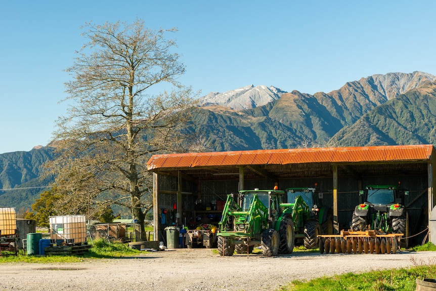
M 198 100 L 192 128 L 208 151 L 436 144 L 436 76 L 374 74 L 314 95 L 270 86 L 212 92 Z M 0 206 L 30 208 L 47 181 L 49 146 L 0 154 Z

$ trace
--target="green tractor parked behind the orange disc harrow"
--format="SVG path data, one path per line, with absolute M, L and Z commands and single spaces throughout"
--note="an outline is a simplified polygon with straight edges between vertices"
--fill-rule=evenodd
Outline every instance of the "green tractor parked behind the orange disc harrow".
M 393 185 L 369 185 L 360 190 L 364 202 L 355 207 L 351 220 L 353 231 L 377 230 L 384 233 L 403 233 L 401 245 L 409 244 L 409 216 L 404 206 L 404 196 L 409 191 Z

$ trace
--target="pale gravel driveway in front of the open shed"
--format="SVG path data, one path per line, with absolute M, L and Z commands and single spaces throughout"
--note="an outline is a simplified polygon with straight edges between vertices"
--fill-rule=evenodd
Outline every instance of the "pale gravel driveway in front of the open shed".
M 435 264 L 436 253 L 359 255 L 294 252 L 220 257 L 206 248 L 165 250 L 135 258 L 80 263 L 0 264 L 0 290 L 276 290 L 292 280 Z

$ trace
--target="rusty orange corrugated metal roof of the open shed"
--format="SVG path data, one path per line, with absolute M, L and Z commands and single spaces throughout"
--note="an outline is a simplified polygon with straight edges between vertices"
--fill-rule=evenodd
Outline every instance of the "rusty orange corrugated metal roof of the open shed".
M 401 145 L 157 154 L 148 160 L 147 170 L 248 164 L 427 161 L 433 151 L 433 145 Z

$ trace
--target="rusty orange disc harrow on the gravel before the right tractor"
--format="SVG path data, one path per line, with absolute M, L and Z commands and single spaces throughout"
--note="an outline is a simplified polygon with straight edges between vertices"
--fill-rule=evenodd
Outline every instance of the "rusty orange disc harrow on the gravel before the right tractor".
M 318 235 L 321 254 L 396 254 L 403 233 L 375 230 L 344 231 L 340 234 Z

